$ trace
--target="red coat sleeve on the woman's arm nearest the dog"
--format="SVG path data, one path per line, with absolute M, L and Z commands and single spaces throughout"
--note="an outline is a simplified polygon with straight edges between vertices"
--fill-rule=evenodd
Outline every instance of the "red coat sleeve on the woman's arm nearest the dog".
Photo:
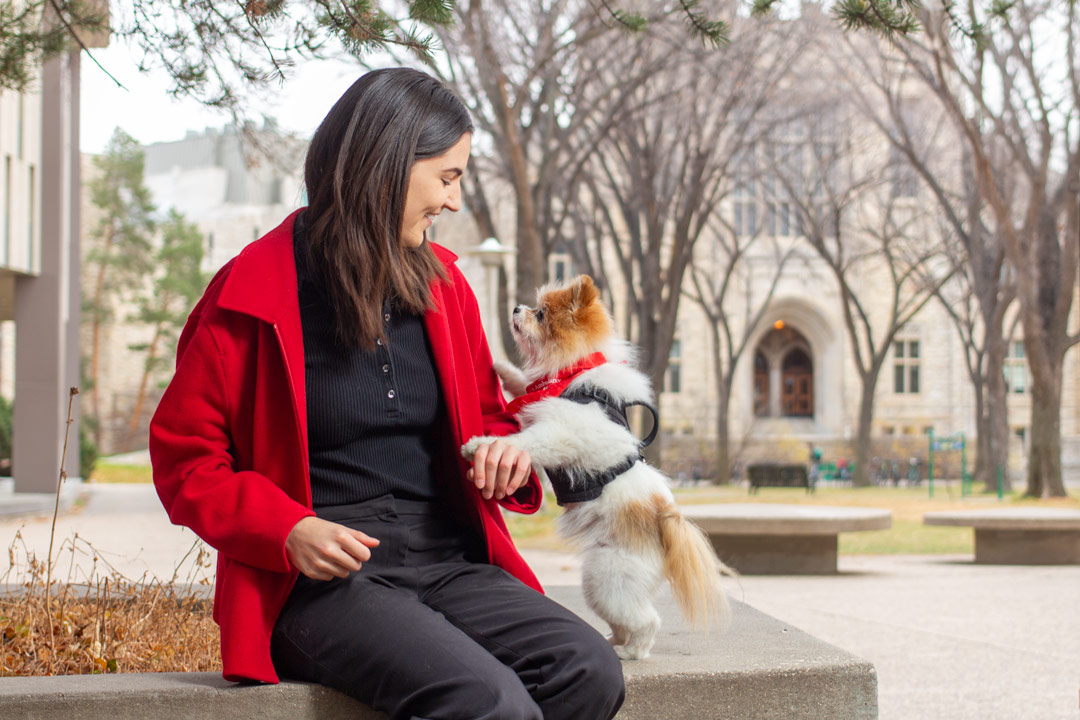
M 458 289 L 461 303 L 461 316 L 465 331 L 469 335 L 469 348 L 472 353 L 472 366 L 476 372 L 476 389 L 480 392 L 481 412 L 484 416 L 485 435 L 510 435 L 521 430 L 517 419 L 507 411 L 507 400 L 502 395 L 499 376 L 491 363 L 491 350 L 487 344 L 484 324 L 480 318 L 480 305 L 476 296 L 465 281 L 464 275 L 454 267 L 454 284 Z M 540 510 L 543 490 L 536 473 L 531 473 L 528 481 L 518 488 L 517 492 L 499 501 L 509 511 L 526 515 Z

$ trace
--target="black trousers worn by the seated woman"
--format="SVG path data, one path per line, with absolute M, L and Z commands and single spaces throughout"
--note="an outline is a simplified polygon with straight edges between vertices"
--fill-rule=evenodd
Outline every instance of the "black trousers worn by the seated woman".
M 607 640 L 488 565 L 444 508 L 384 495 L 319 515 L 380 544 L 348 578 L 300 575 L 271 640 L 283 677 L 393 720 L 607 720 L 622 705 Z

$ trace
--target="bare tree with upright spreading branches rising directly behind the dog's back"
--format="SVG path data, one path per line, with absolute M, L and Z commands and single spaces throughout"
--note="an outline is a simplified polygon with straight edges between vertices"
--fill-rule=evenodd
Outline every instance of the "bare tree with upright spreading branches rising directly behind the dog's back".
M 659 26 L 658 26 L 659 29 Z M 575 259 L 618 280 L 626 335 L 661 388 L 694 246 L 731 190 L 733 158 L 753 140 L 762 108 L 789 81 L 806 42 L 794 24 L 738 28 L 723 51 L 686 47 L 673 32 L 640 39 L 627 60 L 664 67 L 634 92 L 590 159 L 572 234 Z M 619 76 L 609 63 L 599 72 Z M 659 456 L 653 451 L 652 460 Z

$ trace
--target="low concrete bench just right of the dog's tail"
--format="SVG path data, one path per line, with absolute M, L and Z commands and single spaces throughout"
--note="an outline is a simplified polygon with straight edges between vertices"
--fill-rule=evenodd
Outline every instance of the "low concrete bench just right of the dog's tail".
M 685 505 L 683 514 L 750 575 L 835 574 L 839 533 L 892 527 L 891 511 L 869 507 L 731 503 Z

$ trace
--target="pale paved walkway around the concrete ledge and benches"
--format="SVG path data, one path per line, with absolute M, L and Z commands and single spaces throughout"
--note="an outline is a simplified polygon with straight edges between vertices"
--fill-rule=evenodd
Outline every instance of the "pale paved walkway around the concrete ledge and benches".
M 57 524 L 57 543 L 78 533 L 129 578 L 171 576 L 194 536 L 168 525 L 152 488 L 87 491 L 85 506 Z M 44 556 L 50 524 L 51 517 L 0 517 L 0 548 L 19 531 Z M 572 555 L 526 557 L 546 585 L 580 582 Z M 85 572 L 89 556 L 76 559 Z M 882 720 L 1080 719 L 1080 566 L 970 560 L 840 556 L 839 575 L 746 576 L 728 587 L 754 608 L 872 661 Z M 65 574 L 67 562 L 59 562 Z M 0 560 L 0 574 L 6 568 Z

